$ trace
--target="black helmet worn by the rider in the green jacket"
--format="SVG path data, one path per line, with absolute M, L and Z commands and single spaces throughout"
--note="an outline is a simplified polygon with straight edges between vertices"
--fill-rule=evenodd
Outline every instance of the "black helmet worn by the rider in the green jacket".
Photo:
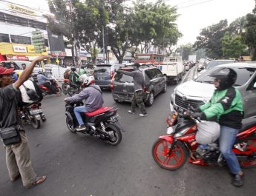
M 237 80 L 237 72 L 230 68 L 216 70 L 212 72 L 209 76 L 220 80 L 220 86 L 217 87 L 217 89 L 219 90 L 228 89 L 229 87 L 232 87 L 235 81 Z

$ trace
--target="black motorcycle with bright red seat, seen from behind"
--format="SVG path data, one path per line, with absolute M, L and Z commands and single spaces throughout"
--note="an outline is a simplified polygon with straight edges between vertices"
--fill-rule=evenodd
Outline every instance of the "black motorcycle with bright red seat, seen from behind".
M 70 132 L 76 133 L 75 127 L 79 126 L 73 108 L 82 105 L 82 102 L 68 102 L 65 105 L 66 124 Z M 85 122 L 85 118 L 87 118 L 88 123 L 86 124 L 87 130 L 81 132 L 105 141 L 110 145 L 118 145 L 122 141 L 121 131 L 124 131 L 124 129 L 119 124 L 118 119 L 120 117 L 117 114 L 117 110 L 116 107 L 100 107 L 93 112 L 82 113 L 83 121 Z

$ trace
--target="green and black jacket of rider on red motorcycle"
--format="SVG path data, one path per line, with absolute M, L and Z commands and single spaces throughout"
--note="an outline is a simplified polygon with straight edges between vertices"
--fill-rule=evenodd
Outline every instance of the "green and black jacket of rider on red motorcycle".
M 217 117 L 220 125 L 241 128 L 243 99 L 238 89 L 215 90 L 211 100 L 200 107 L 207 119 Z

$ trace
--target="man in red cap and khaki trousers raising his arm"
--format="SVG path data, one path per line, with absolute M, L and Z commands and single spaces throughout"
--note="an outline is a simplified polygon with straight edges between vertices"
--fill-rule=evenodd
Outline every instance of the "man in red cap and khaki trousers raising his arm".
M 19 87 L 30 77 L 36 63 L 45 58 L 49 57 L 41 55 L 35 58 L 14 83 L 12 78 L 14 69 L 0 67 L 0 130 L 11 126 L 18 126 L 16 97 L 18 97 Z M 35 186 L 44 182 L 46 176 L 37 177 L 33 171 L 27 145 L 27 136 L 21 126 L 19 126 L 19 135 L 21 136 L 19 143 L 4 145 L 10 180 L 13 182 L 21 177 L 23 186 Z

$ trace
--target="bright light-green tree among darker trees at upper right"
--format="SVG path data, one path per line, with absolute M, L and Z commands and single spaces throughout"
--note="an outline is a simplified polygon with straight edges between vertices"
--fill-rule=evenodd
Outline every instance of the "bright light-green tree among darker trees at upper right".
M 238 58 L 240 55 L 246 55 L 246 45 L 243 44 L 241 36 L 231 36 L 229 32 L 226 32 L 221 41 L 223 57 Z

